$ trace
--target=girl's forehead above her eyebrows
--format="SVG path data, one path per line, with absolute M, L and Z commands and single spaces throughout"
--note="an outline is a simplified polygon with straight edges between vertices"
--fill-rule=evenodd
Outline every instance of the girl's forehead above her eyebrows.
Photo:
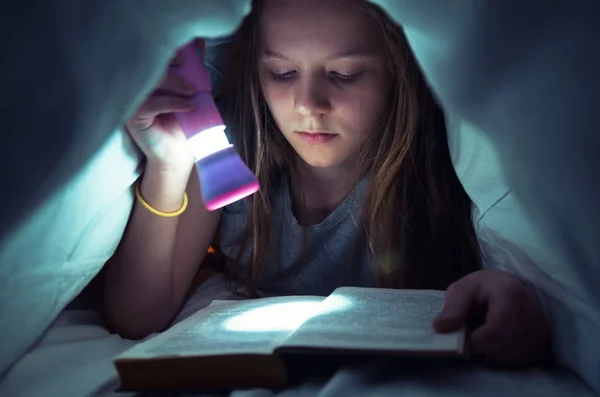
M 377 53 L 382 37 L 362 0 L 265 0 L 261 49 L 296 56 Z

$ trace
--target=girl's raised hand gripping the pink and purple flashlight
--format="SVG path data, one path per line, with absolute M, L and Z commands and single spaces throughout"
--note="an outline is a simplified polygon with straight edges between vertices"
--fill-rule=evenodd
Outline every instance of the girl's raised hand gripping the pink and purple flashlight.
M 171 65 L 185 62 L 178 53 Z M 165 171 L 191 170 L 194 156 L 187 145 L 187 139 L 175 121 L 173 112 L 186 112 L 194 108 L 191 95 L 195 87 L 175 73 L 167 72 L 140 106 L 135 115 L 126 123 L 126 128 L 146 160 L 155 168 Z

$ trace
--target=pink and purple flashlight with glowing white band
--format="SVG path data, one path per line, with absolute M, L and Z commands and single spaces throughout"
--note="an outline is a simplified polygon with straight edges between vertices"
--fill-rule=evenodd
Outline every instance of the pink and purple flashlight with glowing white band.
M 201 47 L 198 42 L 183 47 L 185 62 L 173 69 L 199 90 L 194 95 L 196 108 L 175 113 L 175 118 L 195 156 L 204 205 L 212 211 L 255 193 L 259 184 L 225 135 L 225 124 L 202 63 L 202 43 Z

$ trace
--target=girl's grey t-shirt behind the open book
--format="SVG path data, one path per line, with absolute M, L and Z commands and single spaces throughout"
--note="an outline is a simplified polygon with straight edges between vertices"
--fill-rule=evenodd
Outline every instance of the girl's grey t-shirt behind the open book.
M 359 232 L 365 189 L 362 180 L 325 220 L 303 227 L 292 212 L 289 183 L 283 180 L 271 196 L 274 244 L 262 264 L 259 289 L 285 295 L 329 295 L 342 285 L 373 286 L 367 245 Z M 245 200 L 238 201 L 223 210 L 219 243 L 229 258 L 237 258 L 241 247 L 239 235 L 247 225 L 245 204 Z M 240 265 L 245 265 L 248 253 L 247 248 Z

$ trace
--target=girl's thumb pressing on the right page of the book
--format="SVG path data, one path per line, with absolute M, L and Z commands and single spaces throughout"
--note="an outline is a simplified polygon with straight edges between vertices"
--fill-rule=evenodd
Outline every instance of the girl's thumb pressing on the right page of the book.
M 446 290 L 444 306 L 433 322 L 437 332 L 452 332 L 462 327 L 469 317 L 479 287 L 476 274 L 465 276 Z

